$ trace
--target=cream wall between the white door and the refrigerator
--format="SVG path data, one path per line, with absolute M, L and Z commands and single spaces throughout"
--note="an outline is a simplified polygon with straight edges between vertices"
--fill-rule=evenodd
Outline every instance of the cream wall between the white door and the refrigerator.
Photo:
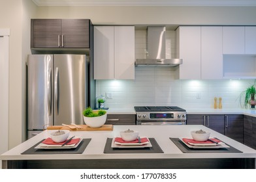
M 10 29 L 9 48 L 9 149 L 20 144 L 24 138 L 25 127 L 25 62 L 29 50 L 30 21 L 25 14 L 36 8 L 32 1 L 2 1 L 0 6 L 0 28 Z M 32 10 L 32 11 L 31 11 Z M 26 17 L 26 18 L 25 18 Z M 26 19 L 26 21 L 25 21 Z M 24 43 L 25 42 L 25 43 Z

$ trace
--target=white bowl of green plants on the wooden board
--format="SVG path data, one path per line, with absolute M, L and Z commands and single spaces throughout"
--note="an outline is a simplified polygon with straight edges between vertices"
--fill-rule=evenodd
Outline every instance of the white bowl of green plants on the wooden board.
M 101 127 L 106 122 L 106 110 L 92 110 L 88 107 L 83 111 L 84 122 L 89 127 Z

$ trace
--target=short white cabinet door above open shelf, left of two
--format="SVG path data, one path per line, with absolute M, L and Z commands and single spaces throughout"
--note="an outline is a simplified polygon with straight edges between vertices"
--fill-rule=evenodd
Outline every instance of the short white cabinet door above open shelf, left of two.
M 223 27 L 223 54 L 244 54 L 244 27 Z

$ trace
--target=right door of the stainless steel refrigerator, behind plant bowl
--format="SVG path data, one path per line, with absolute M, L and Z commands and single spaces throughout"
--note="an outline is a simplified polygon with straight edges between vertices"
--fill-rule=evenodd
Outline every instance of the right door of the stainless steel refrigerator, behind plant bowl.
M 54 125 L 84 123 L 86 70 L 86 55 L 54 55 Z

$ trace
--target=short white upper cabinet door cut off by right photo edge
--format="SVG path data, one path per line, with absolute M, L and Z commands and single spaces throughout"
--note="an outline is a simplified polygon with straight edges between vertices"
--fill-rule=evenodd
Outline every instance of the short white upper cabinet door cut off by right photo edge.
M 246 27 L 246 54 L 256 54 L 256 27 Z

